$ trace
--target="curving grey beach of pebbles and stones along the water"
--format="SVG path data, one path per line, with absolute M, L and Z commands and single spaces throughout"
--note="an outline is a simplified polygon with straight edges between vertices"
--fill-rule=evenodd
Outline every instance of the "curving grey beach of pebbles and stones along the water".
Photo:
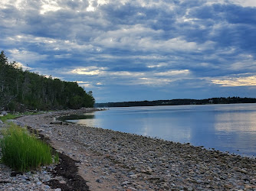
M 74 190 L 256 190 L 254 158 L 54 121 L 81 112 L 89 111 L 46 112 L 17 119 L 70 158 L 78 170 L 75 176 L 65 176 L 64 167 L 57 165 L 11 176 L 11 170 L 1 164 L 0 189 L 68 190 L 81 178 Z

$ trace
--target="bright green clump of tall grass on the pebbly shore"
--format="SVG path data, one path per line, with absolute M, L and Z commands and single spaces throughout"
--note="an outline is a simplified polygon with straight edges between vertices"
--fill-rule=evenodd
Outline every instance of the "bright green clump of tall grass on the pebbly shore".
M 27 129 L 10 124 L 3 135 L 2 162 L 12 169 L 28 171 L 53 162 L 51 147 Z

